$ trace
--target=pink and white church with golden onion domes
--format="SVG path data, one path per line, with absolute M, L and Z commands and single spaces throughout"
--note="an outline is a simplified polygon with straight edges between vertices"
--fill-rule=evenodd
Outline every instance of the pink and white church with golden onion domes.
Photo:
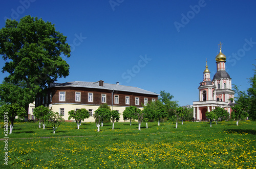
M 206 120 L 205 113 L 221 107 L 231 113 L 231 105 L 233 105 L 234 91 L 232 90 L 231 78 L 226 72 L 226 56 L 221 51 L 216 56 L 217 73 L 214 78 L 210 79 L 210 70 L 206 66 L 203 72 L 203 81 L 200 83 L 199 101 L 193 102 L 194 118 L 196 120 Z M 232 99 L 230 99 L 232 98 Z

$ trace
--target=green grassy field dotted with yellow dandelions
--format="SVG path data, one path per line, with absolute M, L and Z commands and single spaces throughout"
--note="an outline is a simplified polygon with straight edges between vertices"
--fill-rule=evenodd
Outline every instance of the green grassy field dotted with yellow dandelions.
M 8 165 L 1 168 L 255 168 L 256 122 L 64 123 L 44 131 L 38 123 L 14 124 Z M 1 124 L 4 138 L 3 123 Z M 0 137 L 1 138 L 1 137 Z M 23 139 L 21 139 L 23 138 Z M 24 139 L 25 138 L 25 139 Z M 4 156 L 5 142 L 1 140 Z

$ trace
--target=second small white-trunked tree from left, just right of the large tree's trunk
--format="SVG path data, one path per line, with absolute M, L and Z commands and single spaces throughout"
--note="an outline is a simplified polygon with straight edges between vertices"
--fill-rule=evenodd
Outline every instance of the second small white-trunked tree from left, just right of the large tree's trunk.
M 49 108 L 43 105 L 40 105 L 34 109 L 33 114 L 39 120 L 39 128 L 41 128 L 40 122 L 42 122 L 42 128 L 45 130 L 46 123 L 49 119 L 50 111 L 51 110 Z

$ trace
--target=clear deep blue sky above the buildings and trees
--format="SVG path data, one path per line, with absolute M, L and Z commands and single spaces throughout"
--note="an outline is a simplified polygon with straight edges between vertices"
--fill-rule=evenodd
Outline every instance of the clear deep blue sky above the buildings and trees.
M 119 81 L 159 93 L 179 104 L 198 101 L 206 58 L 216 73 L 223 43 L 232 84 L 249 87 L 256 64 L 256 1 L 1 1 L 5 18 L 37 16 L 55 24 L 72 46 L 70 75 L 58 82 Z M 4 66 L 4 60 L 0 67 Z M 8 74 L 0 74 L 0 81 Z

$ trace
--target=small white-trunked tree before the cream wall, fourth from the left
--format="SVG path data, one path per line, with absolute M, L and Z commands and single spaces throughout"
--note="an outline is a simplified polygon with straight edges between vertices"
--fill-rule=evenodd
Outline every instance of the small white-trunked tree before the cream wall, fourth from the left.
M 89 111 L 87 111 L 87 109 L 84 109 L 84 108 L 78 109 L 78 110 L 71 110 L 68 113 L 69 113 L 69 120 L 71 118 L 74 118 L 76 120 L 77 129 L 79 129 L 79 127 L 81 126 L 82 120 L 90 117 Z

